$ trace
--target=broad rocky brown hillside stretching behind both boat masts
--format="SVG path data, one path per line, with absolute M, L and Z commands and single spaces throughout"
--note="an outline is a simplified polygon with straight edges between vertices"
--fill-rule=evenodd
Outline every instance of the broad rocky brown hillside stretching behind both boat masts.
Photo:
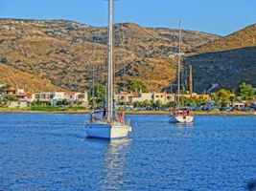
M 176 30 L 144 28 L 133 23 L 115 25 L 115 81 L 141 79 L 159 91 L 175 81 Z M 182 50 L 191 51 L 219 36 L 183 31 Z M 72 21 L 0 20 L 0 62 L 53 84 L 81 91 L 105 81 L 106 28 Z

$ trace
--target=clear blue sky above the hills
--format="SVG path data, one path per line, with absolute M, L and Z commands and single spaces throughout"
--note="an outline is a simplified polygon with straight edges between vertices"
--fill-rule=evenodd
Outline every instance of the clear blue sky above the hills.
M 0 18 L 67 19 L 107 25 L 106 0 L 0 0 Z M 116 0 L 116 23 L 226 35 L 256 23 L 256 0 Z

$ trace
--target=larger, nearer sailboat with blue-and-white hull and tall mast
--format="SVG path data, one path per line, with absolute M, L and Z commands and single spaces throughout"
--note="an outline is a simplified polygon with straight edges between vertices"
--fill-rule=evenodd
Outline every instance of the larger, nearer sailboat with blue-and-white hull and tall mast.
M 125 113 L 116 117 L 113 109 L 113 0 L 108 1 L 108 64 L 107 64 L 107 97 L 106 108 L 93 112 L 90 121 L 85 124 L 87 138 L 118 139 L 127 138 L 131 126 L 125 119 Z M 103 113 L 98 119 L 97 114 Z

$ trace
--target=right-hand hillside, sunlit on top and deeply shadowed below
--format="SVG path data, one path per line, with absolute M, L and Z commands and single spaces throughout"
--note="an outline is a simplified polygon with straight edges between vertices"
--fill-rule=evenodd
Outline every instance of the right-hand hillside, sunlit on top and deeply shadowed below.
M 236 89 L 242 82 L 256 87 L 256 24 L 202 45 L 186 59 L 194 66 L 197 92 Z M 197 54 L 198 53 L 198 54 Z M 215 84 L 215 89 L 210 89 Z

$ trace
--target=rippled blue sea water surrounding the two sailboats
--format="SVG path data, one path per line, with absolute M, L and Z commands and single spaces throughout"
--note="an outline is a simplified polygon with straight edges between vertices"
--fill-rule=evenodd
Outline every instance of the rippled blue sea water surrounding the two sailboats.
M 0 190 L 246 190 L 256 117 L 129 116 L 123 140 L 85 138 L 87 115 L 0 114 Z

